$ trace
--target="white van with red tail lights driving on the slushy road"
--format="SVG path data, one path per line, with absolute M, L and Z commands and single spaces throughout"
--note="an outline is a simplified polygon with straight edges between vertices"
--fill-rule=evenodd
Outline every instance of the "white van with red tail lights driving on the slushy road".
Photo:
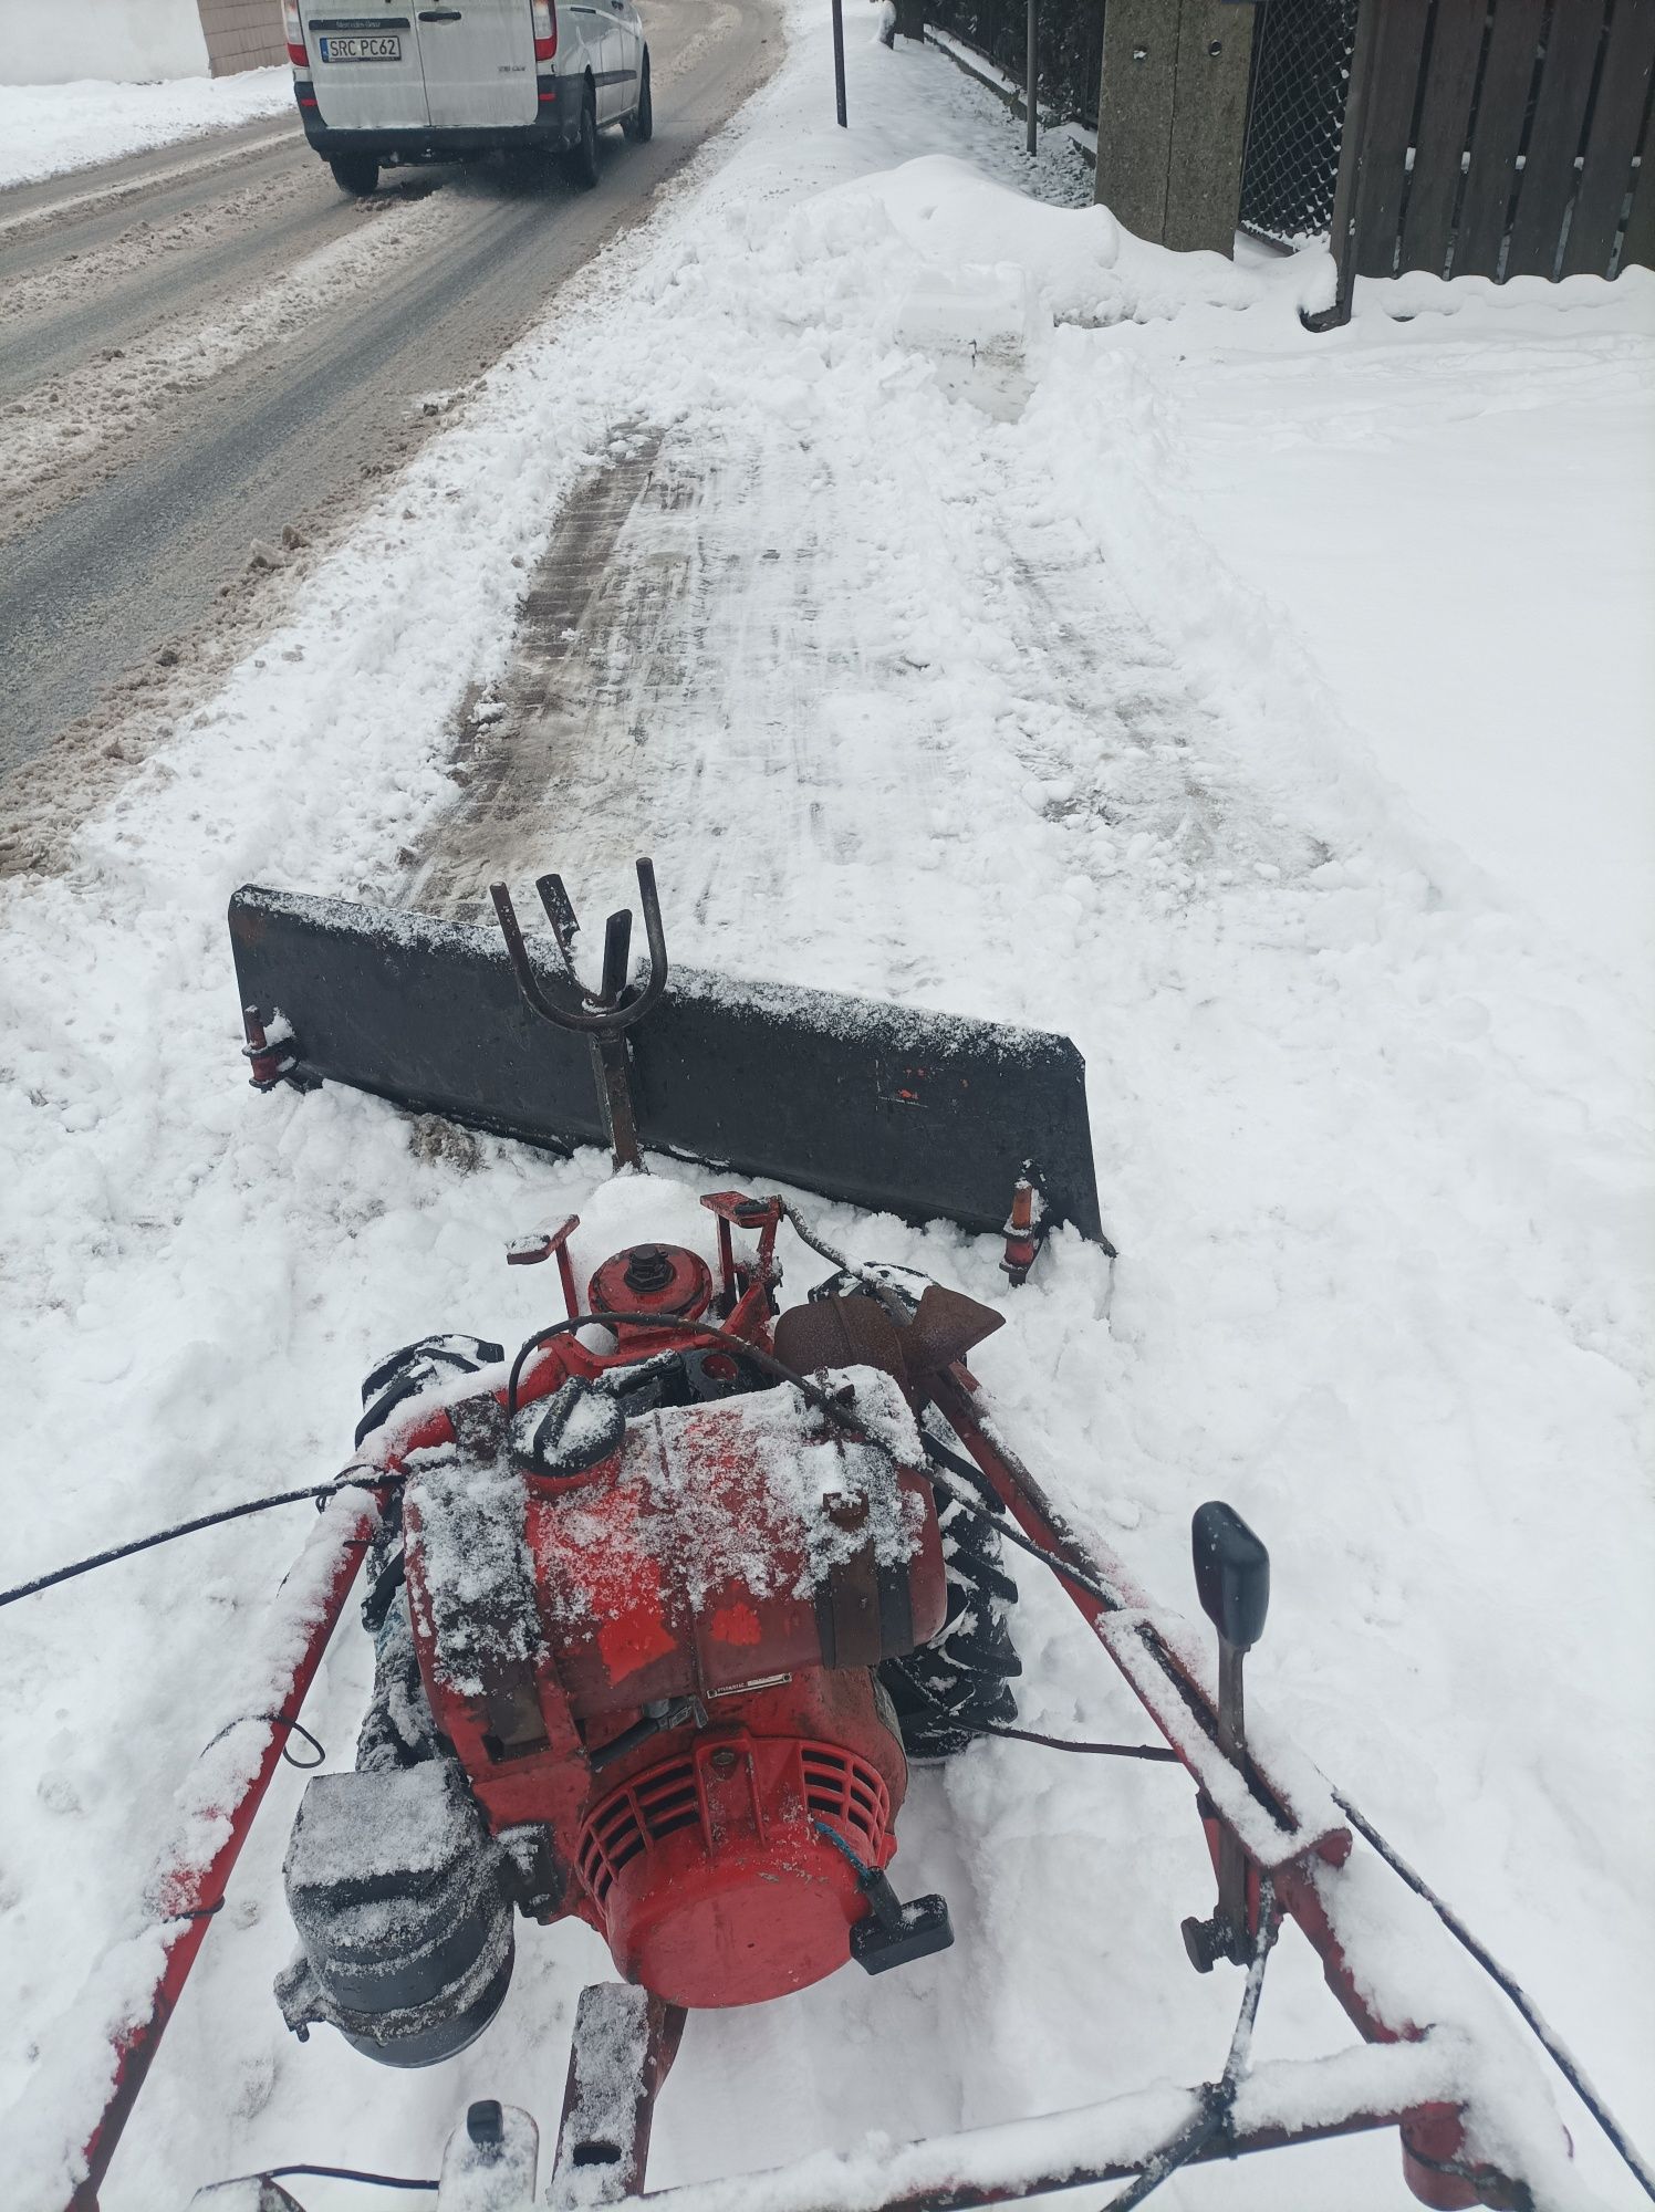
M 305 137 L 341 192 L 385 159 L 564 153 L 597 184 L 597 133 L 653 131 L 633 0 L 283 0 Z

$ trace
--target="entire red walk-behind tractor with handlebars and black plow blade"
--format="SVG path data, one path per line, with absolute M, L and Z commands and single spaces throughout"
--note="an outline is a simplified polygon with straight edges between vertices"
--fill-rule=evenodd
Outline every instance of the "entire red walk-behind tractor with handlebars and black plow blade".
M 1401 2179 L 1425 2205 L 1589 2201 L 1522 2046 L 1498 2026 L 1474 2037 L 1412 1993 L 1440 1942 L 1429 1911 L 1651 2188 L 1522 1991 L 1354 1805 L 1248 1732 L 1241 1668 L 1270 1577 L 1252 1531 L 1219 1502 L 1195 1515 L 1212 1666 L 1000 1433 L 967 1360 L 1002 1316 L 847 1263 L 763 1190 L 779 1177 L 1002 1230 L 1016 1285 L 1053 1221 L 1102 1241 L 1073 1046 L 706 975 L 668 989 L 648 863 L 639 887 L 648 973 L 631 978 L 631 920 L 615 916 L 591 991 L 558 878 L 540 885 L 542 956 L 504 889 L 498 938 L 266 891 L 232 902 L 259 1088 L 334 1077 L 540 1144 L 602 1130 L 617 1166 L 642 1168 L 646 1144 L 701 1157 L 724 1168 L 697 1217 L 717 1256 L 664 1228 L 580 1283 L 580 1223 L 547 1223 L 507 1259 L 555 1265 L 558 1318 L 511 1356 L 431 1336 L 367 1376 L 350 1464 L 288 1493 L 316 1495 L 321 1517 L 263 1632 L 268 1690 L 181 1792 L 184 1840 L 153 1887 L 153 1991 L 133 2004 L 128 1958 L 126 2026 L 77 2075 L 104 2108 L 64 2143 L 58 2201 L 97 2201 L 277 1759 L 305 1736 L 301 1703 L 358 1577 L 374 1692 L 354 1763 L 312 1776 L 292 1827 L 299 1944 L 277 1982 L 290 2028 L 436 2066 L 500 2011 L 520 1918 L 586 1920 L 620 1978 L 580 2002 L 549 2174 L 529 2112 L 473 2101 L 440 2174 L 392 2177 L 438 2212 L 943 2212 L 1111 2181 L 1124 2208 L 1179 2166 L 1363 2128 L 1398 2130 Z M 732 1168 L 759 1190 L 730 1188 Z M 664 1183 L 628 1203 L 650 1188 L 666 1219 Z M 828 1267 L 790 1305 L 783 1232 Z M 1184 1942 L 1199 1973 L 1237 1966 L 1243 1989 L 1221 2070 L 644 2194 L 653 2104 L 688 2013 L 841 1969 L 903 1971 L 956 1940 L 945 1900 L 905 1898 L 889 1867 L 909 1761 L 982 1734 L 1053 1743 L 1016 1725 L 1009 1548 L 1058 1577 L 1159 1736 L 1058 1747 L 1164 1761 L 1195 1785 L 1217 1893 Z M 1115 1838 L 1111 1867 L 1115 1882 L 1146 1878 L 1131 1838 Z M 1255 2066 L 1263 1969 L 1288 1920 L 1361 2046 Z M 323 2172 L 385 2181 L 290 2163 L 195 2203 L 277 2212 Z

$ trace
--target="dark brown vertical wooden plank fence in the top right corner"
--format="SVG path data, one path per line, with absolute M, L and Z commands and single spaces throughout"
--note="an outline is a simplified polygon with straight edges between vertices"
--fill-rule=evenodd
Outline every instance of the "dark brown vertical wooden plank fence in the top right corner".
M 1655 263 L 1655 0 L 1361 0 L 1334 192 L 1356 276 Z

